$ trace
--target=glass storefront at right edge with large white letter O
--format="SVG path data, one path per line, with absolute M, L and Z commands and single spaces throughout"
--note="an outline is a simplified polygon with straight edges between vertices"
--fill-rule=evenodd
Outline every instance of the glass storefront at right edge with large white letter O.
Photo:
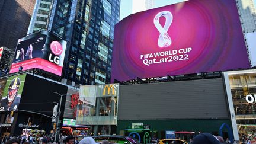
M 235 140 L 256 140 L 256 70 L 223 73 Z

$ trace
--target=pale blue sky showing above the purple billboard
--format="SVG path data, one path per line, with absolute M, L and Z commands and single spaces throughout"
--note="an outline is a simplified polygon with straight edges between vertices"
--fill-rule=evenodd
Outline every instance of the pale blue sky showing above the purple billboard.
M 120 8 L 120 19 L 127 17 L 128 15 L 132 14 L 132 0 L 120 0 L 121 1 L 121 8 Z M 140 1 L 140 0 L 137 0 Z M 177 2 L 182 2 L 184 0 L 155 0 L 156 8 L 162 7 L 164 5 L 175 4 Z M 254 0 L 255 4 L 256 0 Z M 255 4 L 256 5 L 256 4 Z

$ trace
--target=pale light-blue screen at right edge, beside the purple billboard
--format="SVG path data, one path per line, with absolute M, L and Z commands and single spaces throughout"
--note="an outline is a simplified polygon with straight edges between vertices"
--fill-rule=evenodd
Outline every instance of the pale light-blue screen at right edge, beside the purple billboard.
M 251 65 L 256 66 L 256 33 L 245 34 L 249 49 L 249 58 L 251 60 Z

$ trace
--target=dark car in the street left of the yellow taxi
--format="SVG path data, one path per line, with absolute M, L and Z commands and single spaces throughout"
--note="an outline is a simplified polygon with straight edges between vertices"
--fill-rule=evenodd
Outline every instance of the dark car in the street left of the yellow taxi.
M 95 136 L 95 142 L 102 142 L 103 140 L 107 140 L 109 143 L 124 143 L 124 144 L 133 144 L 139 143 L 137 139 L 128 136 Z

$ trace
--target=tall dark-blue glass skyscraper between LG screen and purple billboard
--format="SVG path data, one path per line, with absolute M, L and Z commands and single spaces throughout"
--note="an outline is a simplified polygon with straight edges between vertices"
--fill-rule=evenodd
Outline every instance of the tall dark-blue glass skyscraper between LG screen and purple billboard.
M 120 0 L 56 0 L 51 10 L 48 29 L 68 41 L 62 72 L 67 84 L 110 82 Z

